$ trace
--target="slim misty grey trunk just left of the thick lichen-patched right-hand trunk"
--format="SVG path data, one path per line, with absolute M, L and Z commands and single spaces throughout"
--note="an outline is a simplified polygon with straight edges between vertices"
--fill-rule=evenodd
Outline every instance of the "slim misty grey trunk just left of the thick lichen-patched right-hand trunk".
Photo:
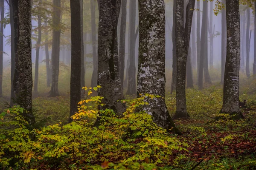
M 222 3 L 226 5 L 226 0 Z M 226 10 L 222 9 L 221 12 L 221 84 L 224 82 L 225 60 L 227 55 L 227 19 Z

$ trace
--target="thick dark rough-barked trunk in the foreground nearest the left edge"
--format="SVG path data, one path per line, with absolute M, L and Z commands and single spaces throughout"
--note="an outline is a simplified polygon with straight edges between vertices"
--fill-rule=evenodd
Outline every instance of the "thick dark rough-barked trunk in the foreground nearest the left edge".
M 31 60 L 31 2 L 18 0 L 18 72 L 19 90 L 17 104 L 26 109 L 25 119 L 29 124 L 35 123 L 32 113 L 32 60 Z

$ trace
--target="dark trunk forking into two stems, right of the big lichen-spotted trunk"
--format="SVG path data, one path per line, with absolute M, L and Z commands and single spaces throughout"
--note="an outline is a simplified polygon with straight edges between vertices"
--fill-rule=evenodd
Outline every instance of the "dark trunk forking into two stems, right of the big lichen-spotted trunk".
M 176 1 L 176 55 L 177 55 L 177 85 L 176 85 L 176 112 L 173 119 L 188 119 L 186 110 L 186 69 L 189 51 L 190 33 L 192 18 L 195 7 L 195 0 L 189 0 L 186 6 L 186 23 L 184 28 L 184 1 Z M 191 67 L 191 60 L 189 60 Z M 186 69 L 184 69 L 186 68 Z M 191 68 L 190 68 L 191 69 Z M 192 77 L 192 76 L 191 76 Z

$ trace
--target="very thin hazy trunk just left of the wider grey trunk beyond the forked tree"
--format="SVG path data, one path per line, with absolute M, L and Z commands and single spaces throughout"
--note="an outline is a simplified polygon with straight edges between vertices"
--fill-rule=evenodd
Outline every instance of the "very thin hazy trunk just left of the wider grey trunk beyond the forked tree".
M 199 69 L 200 69 L 200 20 L 201 20 L 201 11 L 200 11 L 200 0 L 196 3 L 196 8 L 198 9 L 196 14 L 196 51 L 197 51 L 197 71 L 198 71 L 198 82 L 199 82 Z M 199 83 L 198 83 L 199 86 Z

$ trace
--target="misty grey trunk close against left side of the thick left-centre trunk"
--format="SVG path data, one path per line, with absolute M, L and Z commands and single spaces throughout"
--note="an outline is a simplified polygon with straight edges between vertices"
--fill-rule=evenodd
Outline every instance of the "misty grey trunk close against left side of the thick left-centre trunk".
M 98 72 L 98 56 L 96 51 L 96 17 L 95 17 L 95 1 L 90 1 L 91 11 L 91 29 L 92 29 L 92 43 L 93 43 L 93 75 L 91 80 L 91 87 L 97 86 L 97 72 Z

